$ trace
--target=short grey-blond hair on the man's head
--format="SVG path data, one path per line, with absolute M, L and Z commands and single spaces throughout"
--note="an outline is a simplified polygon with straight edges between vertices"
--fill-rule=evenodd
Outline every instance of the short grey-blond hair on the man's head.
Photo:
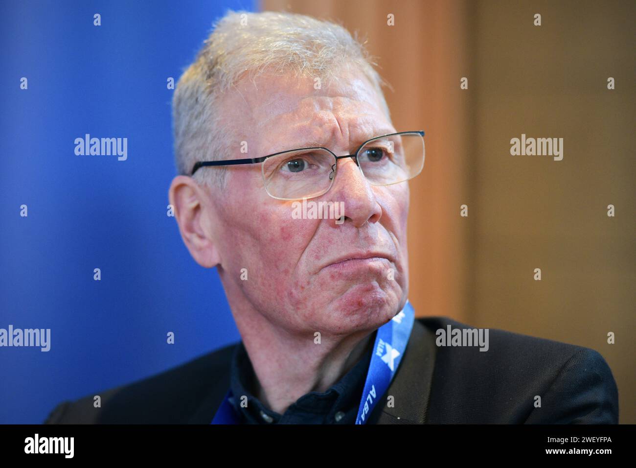
M 362 71 L 377 90 L 384 111 L 385 83 L 371 56 L 345 28 L 332 22 L 293 13 L 228 11 L 216 22 L 194 62 L 177 83 L 173 107 L 174 152 L 179 174 L 190 175 L 200 160 L 232 159 L 228 123 L 219 115 L 219 97 L 245 74 L 264 71 L 318 76 L 327 85 L 342 69 Z M 220 170 L 219 170 L 220 169 Z M 223 166 L 216 180 L 225 183 Z M 197 171 L 195 179 L 209 185 L 211 174 Z

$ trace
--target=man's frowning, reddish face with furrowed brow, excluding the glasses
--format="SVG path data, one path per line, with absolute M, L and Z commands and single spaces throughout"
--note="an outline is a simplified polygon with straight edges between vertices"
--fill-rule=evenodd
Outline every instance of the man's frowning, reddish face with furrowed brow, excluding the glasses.
M 232 158 L 308 146 L 345 155 L 396 132 L 363 74 L 314 84 L 271 74 L 239 82 L 221 107 L 247 142 L 247 153 L 241 141 L 228 142 Z M 211 192 L 209 230 L 230 305 L 239 294 L 277 327 L 312 336 L 373 330 L 403 307 L 408 183 L 373 187 L 353 159 L 338 160 L 331 189 L 309 200 L 343 202 L 345 219 L 336 223 L 294 218 L 293 201 L 266 193 L 260 164 L 228 166 L 227 175 L 225 190 Z

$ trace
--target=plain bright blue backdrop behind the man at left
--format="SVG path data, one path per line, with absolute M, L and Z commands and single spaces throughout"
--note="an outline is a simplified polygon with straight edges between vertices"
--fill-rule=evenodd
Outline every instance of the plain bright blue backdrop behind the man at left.
M 0 423 L 40 423 L 62 400 L 239 339 L 216 270 L 191 259 L 167 216 L 167 78 L 228 8 L 256 5 L 1 4 L 0 328 L 51 329 L 51 348 L 0 347 Z M 127 138 L 127 160 L 76 155 L 85 134 Z

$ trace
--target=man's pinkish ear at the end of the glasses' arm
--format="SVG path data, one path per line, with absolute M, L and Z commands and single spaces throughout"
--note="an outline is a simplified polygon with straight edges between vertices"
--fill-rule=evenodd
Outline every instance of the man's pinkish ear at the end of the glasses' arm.
M 214 206 L 207 191 L 191 177 L 176 176 L 170 184 L 168 197 L 174 207 L 181 238 L 192 258 L 204 268 L 220 264 L 221 257 L 209 229 Z

